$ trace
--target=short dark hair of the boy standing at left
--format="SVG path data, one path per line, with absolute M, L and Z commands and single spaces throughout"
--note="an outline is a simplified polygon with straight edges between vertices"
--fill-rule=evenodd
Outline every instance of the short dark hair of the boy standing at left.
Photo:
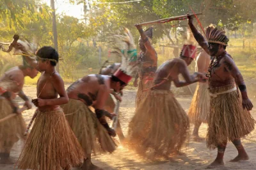
M 52 66 L 56 66 L 56 64 L 59 61 L 59 54 L 58 52 L 52 48 L 51 46 L 44 46 L 41 49 L 39 49 L 36 53 L 36 55 L 42 59 L 54 59 L 57 62 L 51 61 Z

